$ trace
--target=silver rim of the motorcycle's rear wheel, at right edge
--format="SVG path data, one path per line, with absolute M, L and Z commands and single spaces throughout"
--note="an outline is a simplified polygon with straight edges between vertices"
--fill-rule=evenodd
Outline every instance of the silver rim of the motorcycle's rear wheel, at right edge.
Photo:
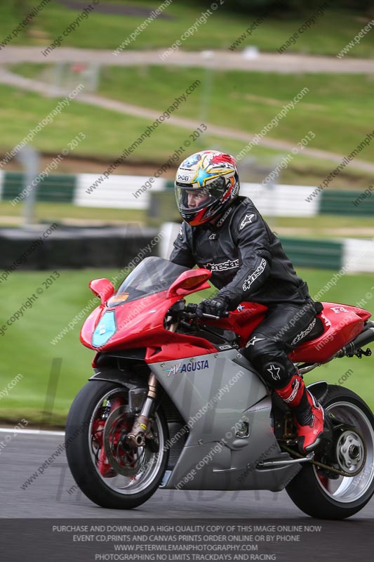
M 366 459 L 364 459 L 365 462 L 361 472 L 356 476 L 340 476 L 338 479 L 334 480 L 326 476 L 321 476 L 318 467 L 313 466 L 314 472 L 316 473 L 316 480 L 326 495 L 336 502 L 352 504 L 352 502 L 355 502 L 365 495 L 373 484 L 373 426 L 370 424 L 370 420 L 366 414 L 359 407 L 350 402 L 336 402 L 326 407 L 325 410 L 335 414 L 336 417 L 345 421 L 347 425 L 356 428 L 358 432 L 345 431 L 338 439 L 336 447 L 340 466 L 336 465 L 337 468 L 352 472 L 359 469 L 361 464 L 363 464 L 363 443 L 361 437 L 366 445 Z

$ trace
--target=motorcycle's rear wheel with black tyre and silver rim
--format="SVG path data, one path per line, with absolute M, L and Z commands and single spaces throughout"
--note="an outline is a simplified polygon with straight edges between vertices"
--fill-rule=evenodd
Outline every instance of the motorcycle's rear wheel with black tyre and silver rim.
M 360 511 L 374 493 L 374 416 L 359 396 L 341 386 L 329 385 L 321 403 L 326 412 L 352 427 L 333 444 L 334 466 L 356 476 L 334 476 L 316 465 L 303 464 L 286 491 L 307 515 L 344 519 Z M 318 449 L 315 460 L 319 460 Z

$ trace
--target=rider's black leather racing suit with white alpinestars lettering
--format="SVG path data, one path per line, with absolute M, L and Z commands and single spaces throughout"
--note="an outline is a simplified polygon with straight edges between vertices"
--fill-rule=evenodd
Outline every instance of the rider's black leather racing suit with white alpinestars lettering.
M 242 351 L 269 386 L 285 386 L 296 372 L 287 353 L 314 327 L 316 308 L 253 202 L 237 197 L 215 224 L 183 223 L 170 259 L 211 270 L 211 281 L 220 289 L 215 298 L 224 296 L 229 310 L 242 301 L 268 306 Z

